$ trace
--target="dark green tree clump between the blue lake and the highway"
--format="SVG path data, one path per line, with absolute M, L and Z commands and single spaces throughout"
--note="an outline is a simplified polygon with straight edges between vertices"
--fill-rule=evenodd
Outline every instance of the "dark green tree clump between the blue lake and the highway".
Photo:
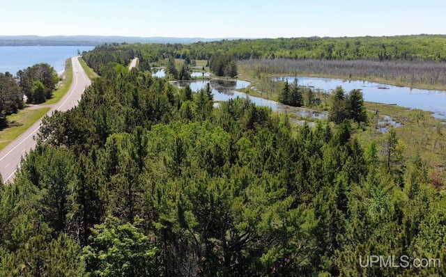
M 8 126 L 6 116 L 17 113 L 26 102 L 40 104 L 52 97 L 59 81 L 56 70 L 47 63 L 38 63 L 17 72 L 0 73 L 0 129 Z

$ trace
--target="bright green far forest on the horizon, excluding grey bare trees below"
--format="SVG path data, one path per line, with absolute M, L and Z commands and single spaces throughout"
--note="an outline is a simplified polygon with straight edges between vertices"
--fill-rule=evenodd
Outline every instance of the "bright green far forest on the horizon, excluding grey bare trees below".
M 152 61 L 159 58 L 208 60 L 223 51 L 236 59 L 291 58 L 321 60 L 446 61 L 445 35 L 406 35 L 356 38 L 275 38 L 220 40 L 191 44 L 137 44 L 135 48 Z

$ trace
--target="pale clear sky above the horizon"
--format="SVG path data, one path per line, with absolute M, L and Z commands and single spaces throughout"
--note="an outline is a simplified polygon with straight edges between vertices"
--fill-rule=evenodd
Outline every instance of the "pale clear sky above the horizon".
M 0 0 L 0 35 L 295 38 L 446 34 L 445 0 Z

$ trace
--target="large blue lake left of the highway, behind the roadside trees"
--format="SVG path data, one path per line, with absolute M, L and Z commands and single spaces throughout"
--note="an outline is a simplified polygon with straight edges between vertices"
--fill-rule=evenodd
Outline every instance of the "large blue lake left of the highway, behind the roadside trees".
M 0 47 L 0 72 L 17 74 L 36 63 L 48 63 L 56 72 L 65 68 L 67 58 L 90 51 L 93 46 L 2 46 Z

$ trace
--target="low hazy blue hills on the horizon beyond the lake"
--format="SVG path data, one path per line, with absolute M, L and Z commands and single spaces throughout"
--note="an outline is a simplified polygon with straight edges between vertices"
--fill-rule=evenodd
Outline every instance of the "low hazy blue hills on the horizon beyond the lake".
M 104 43 L 181 43 L 209 42 L 238 38 L 169 38 L 169 37 L 125 37 L 104 35 L 0 35 L 0 46 L 95 46 Z

